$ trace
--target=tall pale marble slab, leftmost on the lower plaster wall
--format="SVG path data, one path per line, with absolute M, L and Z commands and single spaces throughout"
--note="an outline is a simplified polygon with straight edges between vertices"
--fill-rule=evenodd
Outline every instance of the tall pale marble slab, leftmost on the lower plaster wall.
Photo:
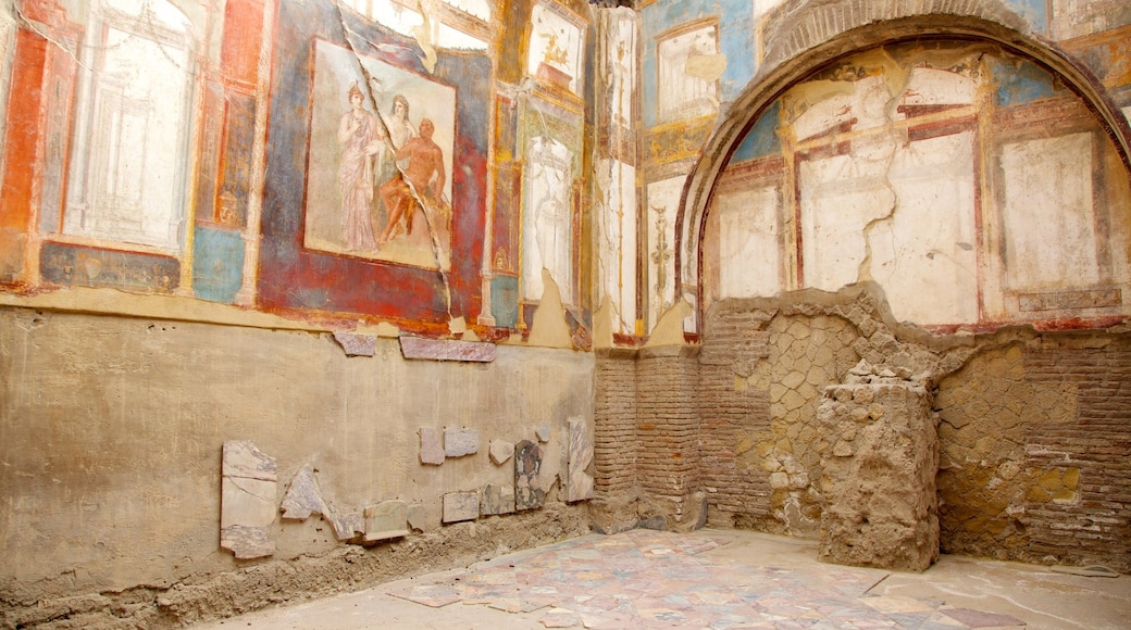
M 224 443 L 221 479 L 219 545 L 236 558 L 275 553 L 270 526 L 278 514 L 275 458 L 250 440 Z

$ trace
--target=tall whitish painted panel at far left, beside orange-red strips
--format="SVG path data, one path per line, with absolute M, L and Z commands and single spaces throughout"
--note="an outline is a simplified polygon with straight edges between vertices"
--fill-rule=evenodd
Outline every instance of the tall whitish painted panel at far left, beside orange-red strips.
M 81 64 L 64 234 L 182 246 L 193 67 L 187 20 L 159 7 L 169 24 L 145 32 L 116 12 L 92 19 L 101 45 Z

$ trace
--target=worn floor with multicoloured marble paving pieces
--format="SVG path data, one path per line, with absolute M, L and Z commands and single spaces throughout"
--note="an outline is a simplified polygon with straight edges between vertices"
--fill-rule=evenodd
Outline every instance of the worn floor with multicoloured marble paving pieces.
M 634 530 L 195 628 L 1116 630 L 1131 577 L 955 555 L 893 572 L 818 562 L 808 541 Z

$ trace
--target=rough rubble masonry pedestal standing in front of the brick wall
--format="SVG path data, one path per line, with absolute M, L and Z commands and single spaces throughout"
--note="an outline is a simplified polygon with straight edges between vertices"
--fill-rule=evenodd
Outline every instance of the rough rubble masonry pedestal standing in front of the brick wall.
M 820 440 L 831 445 L 821 452 L 821 560 L 922 571 L 939 558 L 931 406 L 926 390 L 912 382 L 826 390 L 818 412 Z M 851 439 L 846 425 L 856 426 Z

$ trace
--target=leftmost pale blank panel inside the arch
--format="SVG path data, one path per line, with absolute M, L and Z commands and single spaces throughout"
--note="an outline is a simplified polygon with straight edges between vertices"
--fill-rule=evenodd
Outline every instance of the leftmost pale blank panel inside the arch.
M 782 194 L 777 185 L 723 194 L 715 202 L 718 213 L 719 297 L 769 297 L 783 289 L 778 213 Z

